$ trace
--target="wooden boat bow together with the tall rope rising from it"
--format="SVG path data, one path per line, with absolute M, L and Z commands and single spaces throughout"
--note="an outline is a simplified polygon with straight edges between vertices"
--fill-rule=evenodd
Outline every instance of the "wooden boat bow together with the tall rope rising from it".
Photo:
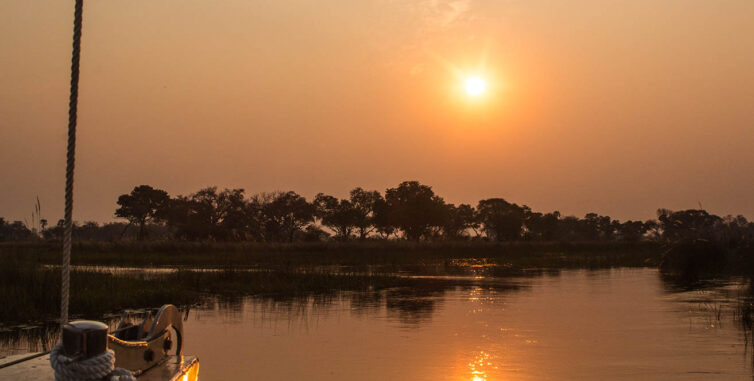
M 199 358 L 183 354 L 183 321 L 174 305 L 162 306 L 154 317 L 148 314 L 139 324 L 129 323 L 128 315 L 123 315 L 118 327 L 110 332 L 108 325 L 102 322 L 68 321 L 73 170 L 84 6 L 84 0 L 75 1 L 61 267 L 61 342 L 50 352 L 1 358 L 0 379 L 196 381 L 199 379 Z

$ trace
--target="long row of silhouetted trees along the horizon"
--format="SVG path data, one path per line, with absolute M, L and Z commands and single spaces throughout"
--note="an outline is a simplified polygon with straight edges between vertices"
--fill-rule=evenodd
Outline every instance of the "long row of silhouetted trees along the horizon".
M 476 206 L 451 204 L 432 187 L 405 181 L 380 193 L 353 189 L 347 198 L 319 193 L 311 201 L 296 192 L 258 193 L 209 187 L 171 197 L 149 185 L 118 197 L 115 216 L 127 222 L 74 226 L 83 240 L 176 239 L 187 241 L 294 242 L 325 240 L 626 241 L 689 239 L 750 242 L 754 223 L 701 209 L 659 209 L 657 219 L 618 221 L 588 213 L 535 212 L 502 198 Z M 39 228 L 0 218 L 0 241 L 59 239 L 63 224 Z

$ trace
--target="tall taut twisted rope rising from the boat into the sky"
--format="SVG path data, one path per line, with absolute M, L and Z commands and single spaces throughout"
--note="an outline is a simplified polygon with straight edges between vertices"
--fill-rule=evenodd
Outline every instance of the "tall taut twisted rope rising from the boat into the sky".
M 76 111 L 79 100 L 79 60 L 84 0 L 76 0 L 73 18 L 73 55 L 71 57 L 71 96 L 68 100 L 68 155 L 65 166 L 65 233 L 63 235 L 63 276 L 60 298 L 60 324 L 68 323 L 68 293 L 71 274 L 71 235 L 73 234 L 73 167 L 76 159 Z

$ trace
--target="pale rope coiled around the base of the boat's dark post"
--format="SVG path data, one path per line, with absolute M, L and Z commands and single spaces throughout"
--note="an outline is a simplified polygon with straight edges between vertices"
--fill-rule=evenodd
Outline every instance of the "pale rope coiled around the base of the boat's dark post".
M 81 361 L 64 355 L 62 349 L 63 344 L 58 344 L 50 352 L 50 365 L 55 370 L 56 381 L 136 381 L 129 370 L 115 368 L 115 352 L 112 349 Z

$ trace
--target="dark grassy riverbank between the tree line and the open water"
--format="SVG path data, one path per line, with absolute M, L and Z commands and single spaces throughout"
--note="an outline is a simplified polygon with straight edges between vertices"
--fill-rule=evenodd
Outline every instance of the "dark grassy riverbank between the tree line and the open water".
M 76 317 L 96 319 L 125 308 L 197 304 L 204 296 L 301 298 L 396 287 L 443 290 L 472 284 L 474 276 L 504 279 L 566 268 L 657 267 L 662 251 L 652 242 L 77 242 L 70 310 Z M 0 310 L 0 322 L 55 319 L 59 263 L 56 242 L 0 244 L 0 305 L 7 307 Z M 136 271 L 118 270 L 126 266 Z M 140 268 L 172 270 L 150 274 Z

